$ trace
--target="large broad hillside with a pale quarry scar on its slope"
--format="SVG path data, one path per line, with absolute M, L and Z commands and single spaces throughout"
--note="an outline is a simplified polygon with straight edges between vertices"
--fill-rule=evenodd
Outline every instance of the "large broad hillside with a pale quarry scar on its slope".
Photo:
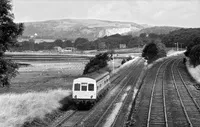
M 23 36 L 31 36 L 37 33 L 37 38 L 68 38 L 78 37 L 94 40 L 98 37 L 113 34 L 124 34 L 130 31 L 135 32 L 143 28 L 132 22 L 104 21 L 95 19 L 62 19 L 41 22 L 24 23 L 25 30 Z

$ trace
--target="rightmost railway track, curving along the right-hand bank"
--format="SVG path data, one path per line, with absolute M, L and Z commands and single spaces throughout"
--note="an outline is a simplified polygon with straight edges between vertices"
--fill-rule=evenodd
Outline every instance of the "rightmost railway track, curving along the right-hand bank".
M 200 126 L 200 106 L 193 97 L 191 91 L 188 89 L 177 65 L 180 61 L 173 63 L 171 67 L 173 85 L 176 89 L 181 109 L 185 118 L 182 118 L 182 126 L 199 127 Z

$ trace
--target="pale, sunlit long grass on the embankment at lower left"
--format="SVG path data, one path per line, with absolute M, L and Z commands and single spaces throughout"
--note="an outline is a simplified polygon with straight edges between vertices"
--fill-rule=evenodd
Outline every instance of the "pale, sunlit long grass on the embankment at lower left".
M 30 125 L 34 120 L 39 123 L 50 122 L 44 119 L 56 109 L 67 106 L 62 100 L 71 94 L 70 90 L 48 90 L 43 92 L 29 92 L 23 94 L 0 95 L 0 127 L 20 127 Z M 66 99 L 68 100 L 68 99 Z

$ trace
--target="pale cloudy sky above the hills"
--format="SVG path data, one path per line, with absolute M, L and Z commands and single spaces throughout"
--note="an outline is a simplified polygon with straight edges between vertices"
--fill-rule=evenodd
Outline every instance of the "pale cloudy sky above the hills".
M 200 0 L 13 0 L 15 22 L 101 19 L 200 27 Z

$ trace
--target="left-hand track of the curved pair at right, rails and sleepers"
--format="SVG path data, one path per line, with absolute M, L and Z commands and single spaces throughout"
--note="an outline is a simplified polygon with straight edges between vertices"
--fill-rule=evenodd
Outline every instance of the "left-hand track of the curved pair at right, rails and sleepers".
M 168 127 L 164 76 L 166 67 L 171 61 L 172 60 L 163 62 L 158 68 L 158 71 L 156 73 L 156 77 L 151 91 L 151 98 L 149 103 L 149 110 L 148 110 L 148 117 L 146 124 L 147 127 L 150 126 Z

